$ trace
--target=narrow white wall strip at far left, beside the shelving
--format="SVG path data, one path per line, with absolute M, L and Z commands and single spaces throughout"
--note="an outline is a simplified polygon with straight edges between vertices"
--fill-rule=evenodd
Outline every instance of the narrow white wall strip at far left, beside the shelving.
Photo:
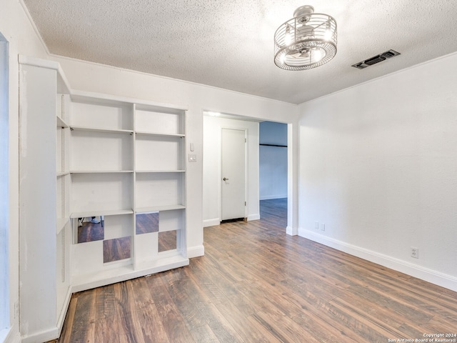
M 0 32 L 9 42 L 9 322 L 0 342 L 19 341 L 19 64 L 18 54 L 46 57 L 28 16 L 17 0 L 2 0 Z M 2 277 L 5 277 L 2 275 Z M 16 307 L 16 308 L 19 308 Z M 6 335 L 6 337 L 5 337 Z

